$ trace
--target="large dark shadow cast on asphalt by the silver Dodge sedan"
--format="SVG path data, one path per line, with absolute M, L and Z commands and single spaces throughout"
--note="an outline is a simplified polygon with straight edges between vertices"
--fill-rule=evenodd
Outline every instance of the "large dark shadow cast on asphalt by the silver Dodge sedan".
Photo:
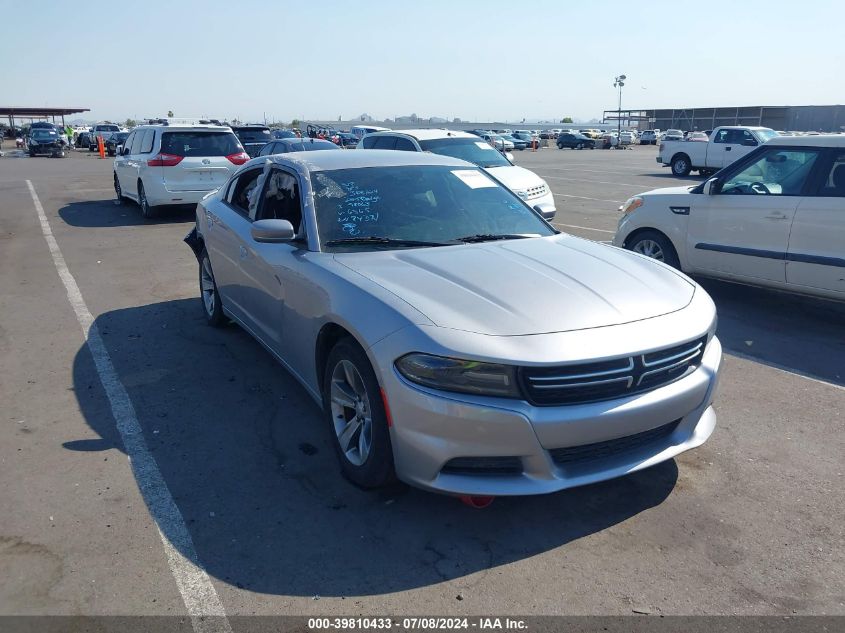
M 653 508 L 678 478 L 669 461 L 589 487 L 502 498 L 483 511 L 401 485 L 362 491 L 341 477 L 305 390 L 240 328 L 207 326 L 198 299 L 115 310 L 96 325 L 199 560 L 239 588 L 353 596 L 465 577 Z M 73 384 L 98 438 L 65 448 L 96 460 L 97 451 L 123 450 L 87 346 L 75 357 Z M 170 522 L 157 522 L 181 547 Z

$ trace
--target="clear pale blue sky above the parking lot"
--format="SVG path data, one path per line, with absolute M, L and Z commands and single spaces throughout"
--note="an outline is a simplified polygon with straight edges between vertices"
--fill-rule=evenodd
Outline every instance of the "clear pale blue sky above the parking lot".
M 0 106 L 91 119 L 588 120 L 623 73 L 623 107 L 845 102 L 845 0 L 0 0 L 0 15 Z

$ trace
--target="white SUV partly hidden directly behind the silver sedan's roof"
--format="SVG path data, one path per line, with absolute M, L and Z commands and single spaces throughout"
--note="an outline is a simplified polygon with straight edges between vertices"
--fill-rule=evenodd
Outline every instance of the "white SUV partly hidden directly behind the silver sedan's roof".
M 555 215 L 555 200 L 545 180 L 533 171 L 517 167 L 492 145 L 475 134 L 455 130 L 401 130 L 367 134 L 358 149 L 395 149 L 431 152 L 475 163 L 529 206 L 550 220 Z

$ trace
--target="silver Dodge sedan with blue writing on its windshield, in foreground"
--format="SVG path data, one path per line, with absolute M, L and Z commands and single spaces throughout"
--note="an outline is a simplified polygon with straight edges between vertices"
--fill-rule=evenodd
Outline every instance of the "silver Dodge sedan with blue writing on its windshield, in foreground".
M 546 493 L 702 444 L 707 293 L 558 233 L 477 166 L 421 152 L 254 159 L 186 238 L 208 322 L 251 333 L 323 408 L 343 473 Z

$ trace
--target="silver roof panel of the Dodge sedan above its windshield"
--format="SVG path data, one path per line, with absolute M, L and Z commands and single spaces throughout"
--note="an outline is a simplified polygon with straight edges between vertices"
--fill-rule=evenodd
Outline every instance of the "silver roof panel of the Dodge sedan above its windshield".
M 284 139 L 282 139 L 284 140 Z M 253 158 L 244 167 L 254 167 L 271 161 L 279 165 L 297 165 L 306 171 L 358 169 L 363 167 L 402 167 L 405 165 L 439 165 L 477 169 L 466 161 L 431 154 L 429 152 L 399 152 L 392 149 L 360 149 L 339 152 L 294 152 Z

